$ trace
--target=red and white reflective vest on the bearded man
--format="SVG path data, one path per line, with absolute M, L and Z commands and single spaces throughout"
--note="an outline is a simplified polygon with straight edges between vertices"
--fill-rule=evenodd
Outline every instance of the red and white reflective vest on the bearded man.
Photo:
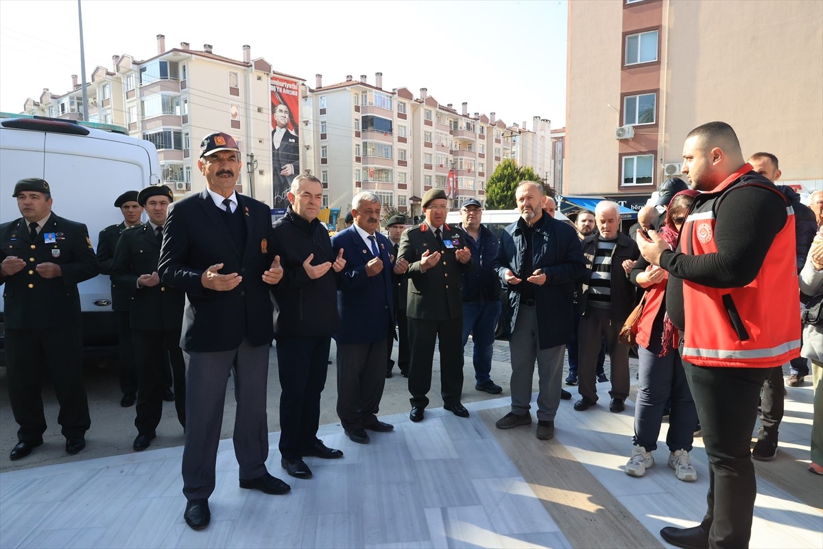
M 788 213 L 760 272 L 746 286 L 712 288 L 683 281 L 683 358 L 695 365 L 768 368 L 800 356 L 794 212 L 777 188 L 761 183 L 760 178 L 746 177 L 750 170 L 751 165 L 743 165 L 712 193 L 701 195 L 681 230 L 684 254 L 716 253 L 715 208 L 732 184 L 734 188 L 757 185 L 774 191 Z

